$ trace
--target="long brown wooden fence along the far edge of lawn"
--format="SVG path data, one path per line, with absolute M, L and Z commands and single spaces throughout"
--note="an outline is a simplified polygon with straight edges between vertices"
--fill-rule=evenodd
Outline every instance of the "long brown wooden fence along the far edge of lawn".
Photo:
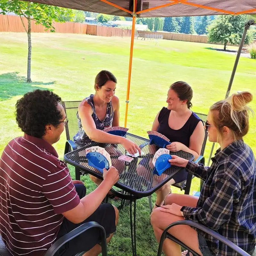
M 23 22 L 28 27 L 28 21 L 26 18 L 22 18 Z M 105 26 L 96 26 L 85 23 L 57 23 L 54 22 L 53 26 L 57 33 L 74 33 L 74 34 L 87 34 L 92 36 L 119 36 L 119 37 L 131 37 L 132 31 L 130 29 L 113 28 Z M 31 21 L 31 31 L 36 33 L 49 33 L 50 30 L 45 30 L 42 25 L 36 24 L 34 20 Z M 0 32 L 25 32 L 19 16 L 15 15 L 2 15 L 0 14 Z M 139 38 L 137 39 L 167 39 L 196 43 L 208 43 L 207 36 L 187 35 L 180 33 L 168 33 L 168 32 L 153 32 L 153 31 L 137 31 Z M 141 38 L 140 38 L 141 37 Z

